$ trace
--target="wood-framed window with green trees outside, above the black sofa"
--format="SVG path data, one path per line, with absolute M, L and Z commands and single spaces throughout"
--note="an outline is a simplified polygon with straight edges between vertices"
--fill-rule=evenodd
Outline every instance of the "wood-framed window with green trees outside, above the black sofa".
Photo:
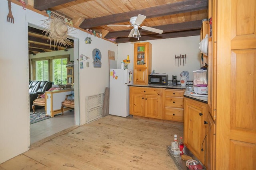
M 32 59 L 33 80 L 49 80 L 54 84 L 57 84 L 57 80 L 62 80 L 62 84 L 67 84 L 66 64 L 69 61 L 69 55 Z

